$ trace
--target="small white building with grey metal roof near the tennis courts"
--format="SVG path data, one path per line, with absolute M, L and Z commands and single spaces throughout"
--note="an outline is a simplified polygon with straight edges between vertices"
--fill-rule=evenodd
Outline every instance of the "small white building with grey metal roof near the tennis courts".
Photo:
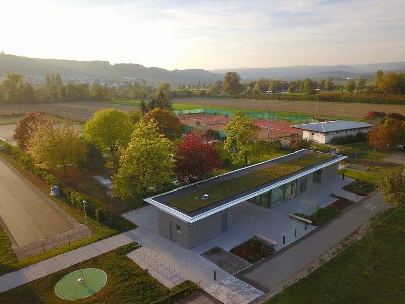
M 303 130 L 302 138 L 318 143 L 331 142 L 333 138 L 356 135 L 358 132 L 368 133 L 372 124 L 335 120 L 329 122 L 311 123 L 292 126 Z

